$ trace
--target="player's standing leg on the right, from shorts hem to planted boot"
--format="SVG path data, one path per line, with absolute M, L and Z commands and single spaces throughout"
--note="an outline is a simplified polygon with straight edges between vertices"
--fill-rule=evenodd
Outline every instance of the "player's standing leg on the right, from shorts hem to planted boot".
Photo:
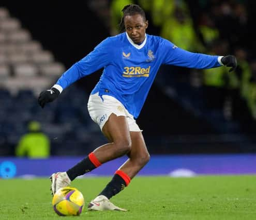
M 106 188 L 88 205 L 88 210 L 118 210 L 125 209 L 114 206 L 109 199 L 121 192 L 130 180 L 149 161 L 149 154 L 141 131 L 131 131 L 131 150 L 128 153 L 129 159 L 115 172 L 112 180 Z

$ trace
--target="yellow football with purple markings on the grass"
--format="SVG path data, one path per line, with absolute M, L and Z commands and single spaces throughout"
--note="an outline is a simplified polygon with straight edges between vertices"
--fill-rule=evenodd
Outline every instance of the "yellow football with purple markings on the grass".
M 78 189 L 64 187 L 54 194 L 52 206 L 61 216 L 80 215 L 84 207 L 84 197 Z

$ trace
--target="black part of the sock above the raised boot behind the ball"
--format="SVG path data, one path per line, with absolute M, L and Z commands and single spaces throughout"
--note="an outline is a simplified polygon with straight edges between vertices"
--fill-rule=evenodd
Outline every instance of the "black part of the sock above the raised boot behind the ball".
M 68 175 L 69 179 L 72 181 L 76 177 L 81 176 L 85 173 L 91 172 L 95 168 L 96 168 L 96 166 L 91 162 L 89 157 L 86 157 L 83 160 L 81 160 L 79 163 L 74 165 L 72 168 L 70 168 L 67 171 L 67 175 Z

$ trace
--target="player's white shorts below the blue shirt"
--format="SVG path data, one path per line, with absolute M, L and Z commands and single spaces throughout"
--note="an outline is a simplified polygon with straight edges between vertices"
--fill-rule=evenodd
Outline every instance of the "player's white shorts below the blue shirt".
M 100 126 L 101 131 L 112 113 L 117 116 L 126 116 L 130 131 L 142 131 L 136 124 L 133 115 L 120 101 L 110 95 L 99 96 L 99 93 L 90 95 L 87 107 L 89 115 Z

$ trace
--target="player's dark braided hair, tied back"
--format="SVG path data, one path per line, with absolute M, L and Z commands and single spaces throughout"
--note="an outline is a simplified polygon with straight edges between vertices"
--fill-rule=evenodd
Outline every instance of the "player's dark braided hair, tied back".
M 144 20 L 146 21 L 145 11 L 139 5 L 135 5 L 135 4 L 126 5 L 122 9 L 122 12 L 123 12 L 123 16 L 122 16 L 121 22 L 119 24 L 120 32 L 124 32 L 125 31 L 124 18 L 127 15 L 140 14 L 142 16 L 142 18 L 144 18 Z

